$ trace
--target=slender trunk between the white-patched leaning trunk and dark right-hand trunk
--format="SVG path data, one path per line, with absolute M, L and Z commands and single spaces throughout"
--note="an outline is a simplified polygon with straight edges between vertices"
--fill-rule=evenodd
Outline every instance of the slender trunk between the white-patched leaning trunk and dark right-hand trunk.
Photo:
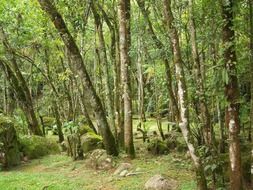
M 207 103 L 206 103 L 206 96 L 205 96 L 205 89 L 204 89 L 204 81 L 202 80 L 201 74 L 201 63 L 199 58 L 199 51 L 198 45 L 196 42 L 196 27 L 195 27 L 195 19 L 194 19 L 194 0 L 189 0 L 189 13 L 190 13 L 190 21 L 189 21 L 189 28 L 190 28 L 190 40 L 191 40 L 191 50 L 192 50 L 192 58 L 194 63 L 194 70 L 195 70 L 195 81 L 197 86 L 197 96 L 199 98 L 199 108 L 200 108 L 200 119 L 202 123 L 202 132 L 204 134 L 205 143 L 210 145 L 214 140 L 211 130 L 211 120 L 210 114 L 208 111 Z

